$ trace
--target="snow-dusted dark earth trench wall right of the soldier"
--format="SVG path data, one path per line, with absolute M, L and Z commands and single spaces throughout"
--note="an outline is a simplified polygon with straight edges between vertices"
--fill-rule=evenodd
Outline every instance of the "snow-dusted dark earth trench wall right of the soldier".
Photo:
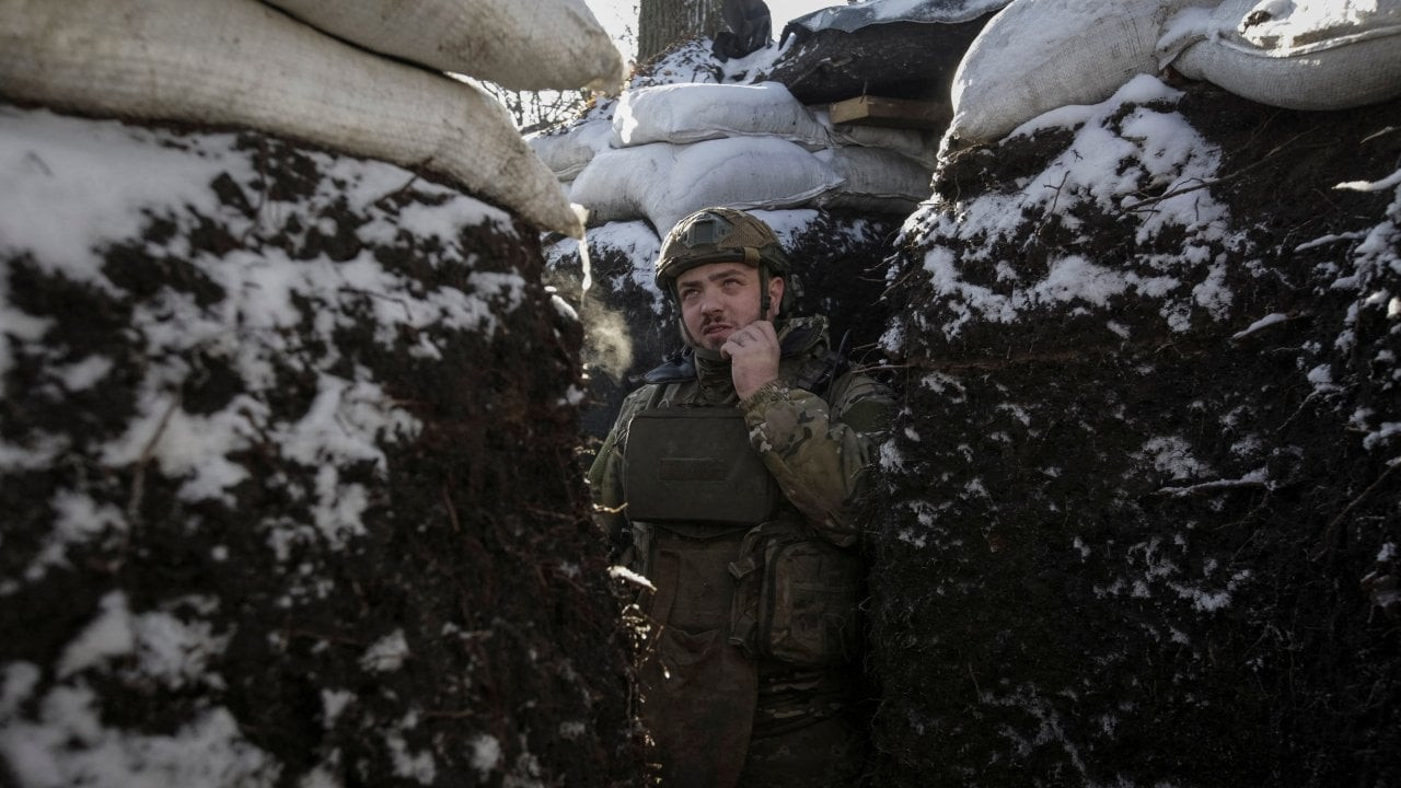
M 1401 784 L 1401 104 L 1146 93 L 906 224 L 880 785 Z

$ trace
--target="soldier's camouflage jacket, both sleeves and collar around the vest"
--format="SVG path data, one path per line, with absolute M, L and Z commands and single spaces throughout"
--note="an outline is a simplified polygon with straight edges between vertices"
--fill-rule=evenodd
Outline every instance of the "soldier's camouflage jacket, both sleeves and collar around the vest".
M 852 508 L 866 487 L 894 401 L 884 386 L 867 376 L 843 373 L 831 380 L 841 370 L 834 369 L 836 358 L 828 345 L 824 318 L 790 320 L 779 328 L 779 341 L 783 346 L 779 380 L 743 402 L 734 391 L 730 363 L 706 351 L 695 352 L 695 372 L 688 380 L 651 383 L 623 401 L 588 471 L 598 520 L 611 537 L 629 531 L 623 457 L 632 418 L 649 407 L 699 405 L 740 408 L 750 443 L 785 499 L 831 544 L 856 543 Z M 649 376 L 675 380 L 681 369 L 658 367 Z

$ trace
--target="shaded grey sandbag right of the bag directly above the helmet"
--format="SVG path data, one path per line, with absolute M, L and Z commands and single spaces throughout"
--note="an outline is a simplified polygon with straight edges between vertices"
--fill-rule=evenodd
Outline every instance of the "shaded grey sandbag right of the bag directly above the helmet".
M 822 195 L 822 208 L 846 208 L 873 213 L 909 213 L 933 193 L 932 167 L 880 147 L 843 146 L 815 153 L 842 185 Z

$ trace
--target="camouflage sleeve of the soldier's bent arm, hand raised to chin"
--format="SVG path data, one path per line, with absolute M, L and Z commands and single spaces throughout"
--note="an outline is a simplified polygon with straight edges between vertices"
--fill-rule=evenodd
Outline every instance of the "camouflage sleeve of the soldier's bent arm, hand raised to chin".
M 853 544 L 852 508 L 894 414 L 890 390 L 848 374 L 832 386 L 828 405 L 811 391 L 773 381 L 740 407 L 750 442 L 787 499 L 831 543 Z

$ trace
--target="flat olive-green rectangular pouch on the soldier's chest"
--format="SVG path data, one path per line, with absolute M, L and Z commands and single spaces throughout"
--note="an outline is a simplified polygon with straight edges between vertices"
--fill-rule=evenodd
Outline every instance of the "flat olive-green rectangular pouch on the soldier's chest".
M 647 523 L 762 523 L 778 482 L 734 408 L 649 408 L 628 428 L 628 519 Z

